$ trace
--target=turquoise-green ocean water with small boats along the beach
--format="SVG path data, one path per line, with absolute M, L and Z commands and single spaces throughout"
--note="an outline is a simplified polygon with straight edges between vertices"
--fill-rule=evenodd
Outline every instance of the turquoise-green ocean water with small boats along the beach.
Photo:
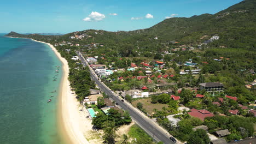
M 61 65 L 48 45 L 0 34 L 1 144 L 65 143 L 57 125 Z

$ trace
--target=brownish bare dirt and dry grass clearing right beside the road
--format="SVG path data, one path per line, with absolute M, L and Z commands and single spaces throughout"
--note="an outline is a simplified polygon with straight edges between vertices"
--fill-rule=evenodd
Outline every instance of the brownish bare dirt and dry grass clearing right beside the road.
M 168 107 L 167 104 L 152 104 L 151 103 L 151 98 L 145 98 L 145 99 L 138 99 L 138 100 L 135 100 L 135 101 L 132 101 L 132 105 L 134 107 L 136 107 L 137 103 L 142 103 L 143 104 L 143 109 L 145 109 L 149 114 L 151 114 L 152 112 L 154 112 L 154 109 L 156 110 L 162 110 L 162 107 Z

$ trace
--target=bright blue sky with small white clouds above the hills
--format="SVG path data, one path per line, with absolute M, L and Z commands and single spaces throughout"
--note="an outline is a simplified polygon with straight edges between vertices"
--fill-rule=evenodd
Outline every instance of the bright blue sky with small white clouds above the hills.
M 132 31 L 172 17 L 215 14 L 242 0 L 8 0 L 0 4 L 0 33 Z

